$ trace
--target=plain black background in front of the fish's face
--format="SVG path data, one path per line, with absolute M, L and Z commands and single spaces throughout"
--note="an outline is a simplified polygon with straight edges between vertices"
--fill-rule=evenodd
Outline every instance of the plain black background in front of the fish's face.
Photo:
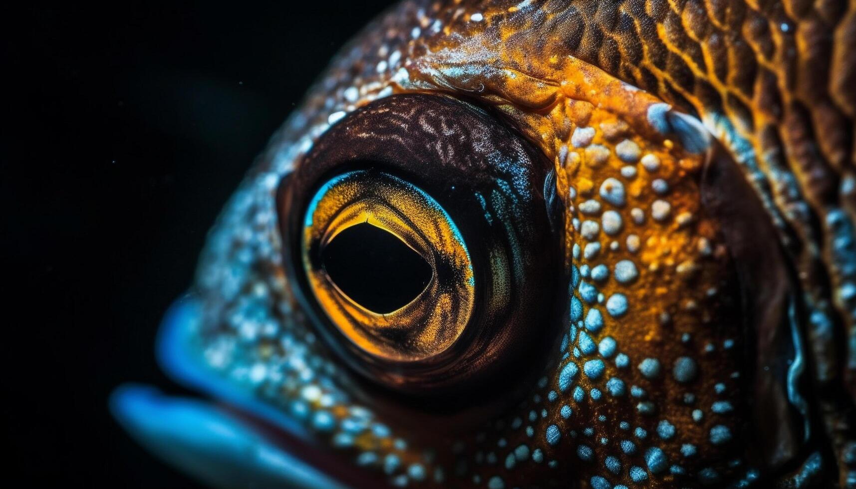
M 193 486 L 110 418 L 217 212 L 389 2 L 3 7 L 3 480 Z M 11 474 L 9 474 L 11 471 Z

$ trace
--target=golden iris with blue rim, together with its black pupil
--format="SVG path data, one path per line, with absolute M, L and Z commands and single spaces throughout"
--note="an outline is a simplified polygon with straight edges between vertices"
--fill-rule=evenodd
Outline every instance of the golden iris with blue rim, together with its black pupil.
M 387 260 L 348 263 L 368 258 L 350 254 L 356 247 Z M 405 265 L 390 268 L 394 255 L 407 258 Z M 475 277 L 461 232 L 437 200 L 388 173 L 352 171 L 324 183 L 306 211 L 301 256 L 333 325 L 380 359 L 437 355 L 461 337 L 473 313 Z M 422 285 L 425 265 L 430 275 Z

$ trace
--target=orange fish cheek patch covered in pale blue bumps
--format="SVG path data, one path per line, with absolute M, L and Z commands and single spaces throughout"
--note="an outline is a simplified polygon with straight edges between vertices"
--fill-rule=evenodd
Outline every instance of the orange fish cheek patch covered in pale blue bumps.
M 557 474 L 612 484 L 744 474 L 734 446 L 753 343 L 727 223 L 704 205 L 706 155 L 587 102 L 560 110 L 571 119 L 556 193 L 572 278 L 547 402 L 531 406 L 539 448 Z

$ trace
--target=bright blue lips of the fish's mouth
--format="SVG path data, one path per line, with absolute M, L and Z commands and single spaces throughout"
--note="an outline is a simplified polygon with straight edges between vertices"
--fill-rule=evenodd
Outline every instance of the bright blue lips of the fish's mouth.
M 158 333 L 157 353 L 172 379 L 207 399 L 130 384 L 110 396 L 111 413 L 140 444 L 210 486 L 387 486 L 330 456 L 304 426 L 207 367 L 193 346 L 200 311 L 194 295 L 175 301 Z

